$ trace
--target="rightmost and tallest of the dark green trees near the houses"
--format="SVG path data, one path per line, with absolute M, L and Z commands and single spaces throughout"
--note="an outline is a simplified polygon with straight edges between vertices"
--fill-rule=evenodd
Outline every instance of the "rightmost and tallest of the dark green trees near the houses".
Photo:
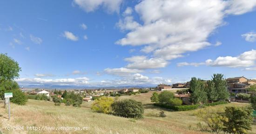
M 226 100 L 229 98 L 229 91 L 227 89 L 227 82 L 223 78 L 223 74 L 213 74 L 212 81 L 217 92 L 217 100 Z

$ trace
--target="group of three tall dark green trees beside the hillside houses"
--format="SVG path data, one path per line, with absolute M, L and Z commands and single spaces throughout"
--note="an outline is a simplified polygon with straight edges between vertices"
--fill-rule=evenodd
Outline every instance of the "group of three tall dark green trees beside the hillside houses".
M 213 102 L 229 98 L 226 80 L 223 74 L 213 74 L 212 79 L 204 81 L 195 77 L 190 80 L 190 100 L 194 104 Z

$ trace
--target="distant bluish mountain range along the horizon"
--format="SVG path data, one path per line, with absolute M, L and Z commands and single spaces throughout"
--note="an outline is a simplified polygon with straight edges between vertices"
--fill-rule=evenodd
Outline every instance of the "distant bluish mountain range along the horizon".
M 140 85 L 140 86 L 75 86 L 75 85 L 47 85 L 47 84 L 42 84 L 42 85 L 21 85 L 20 87 L 23 88 L 45 88 L 45 89 L 99 89 L 99 88 L 105 88 L 105 89 L 121 89 L 121 88 L 142 88 L 142 87 L 156 87 L 156 85 Z

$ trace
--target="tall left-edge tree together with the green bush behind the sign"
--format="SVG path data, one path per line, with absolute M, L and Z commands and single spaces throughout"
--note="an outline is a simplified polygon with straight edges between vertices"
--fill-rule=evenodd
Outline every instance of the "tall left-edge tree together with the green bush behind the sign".
M 21 68 L 17 61 L 8 57 L 7 54 L 0 54 L 0 98 L 4 99 L 4 93 L 12 92 L 13 97 L 10 101 L 18 105 L 25 105 L 27 96 L 19 89 L 15 79 L 19 78 Z M 4 103 L 5 107 L 6 103 Z

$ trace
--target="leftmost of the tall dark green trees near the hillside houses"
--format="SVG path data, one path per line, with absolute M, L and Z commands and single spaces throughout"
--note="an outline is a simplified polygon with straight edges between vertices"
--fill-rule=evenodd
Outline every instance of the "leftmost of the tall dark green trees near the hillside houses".
M 190 100 L 194 104 L 203 103 L 207 100 L 207 93 L 205 91 L 205 84 L 202 80 L 195 77 L 190 80 Z

